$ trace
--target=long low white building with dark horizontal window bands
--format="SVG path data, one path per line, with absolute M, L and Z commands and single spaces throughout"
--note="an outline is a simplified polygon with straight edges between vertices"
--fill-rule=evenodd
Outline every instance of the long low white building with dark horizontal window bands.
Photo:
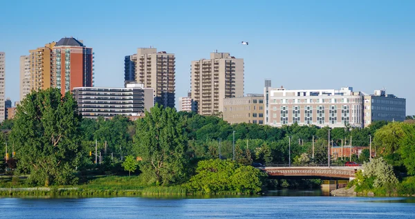
M 126 88 L 78 87 L 73 89 L 78 110 L 83 117 L 96 119 L 116 115 L 142 115 L 154 106 L 153 88 L 127 84 Z

